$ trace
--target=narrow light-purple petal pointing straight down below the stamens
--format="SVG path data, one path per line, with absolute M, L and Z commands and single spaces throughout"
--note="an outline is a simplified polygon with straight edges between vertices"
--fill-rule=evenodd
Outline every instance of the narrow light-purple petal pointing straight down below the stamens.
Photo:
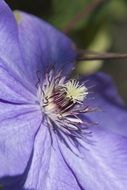
M 24 189 L 80 190 L 80 186 L 65 163 L 56 136 L 51 137 L 44 126 L 36 136 L 34 154 Z

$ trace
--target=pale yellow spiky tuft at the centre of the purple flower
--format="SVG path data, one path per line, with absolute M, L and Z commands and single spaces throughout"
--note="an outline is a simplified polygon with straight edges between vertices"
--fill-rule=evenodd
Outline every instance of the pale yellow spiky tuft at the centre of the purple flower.
M 73 102 L 82 102 L 88 94 L 88 89 L 84 84 L 79 84 L 79 81 L 72 79 L 65 84 L 67 97 Z

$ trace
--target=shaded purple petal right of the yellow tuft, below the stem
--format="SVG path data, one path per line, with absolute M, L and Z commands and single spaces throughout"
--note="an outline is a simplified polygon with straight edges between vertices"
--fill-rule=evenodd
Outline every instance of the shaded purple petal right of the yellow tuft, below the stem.
M 94 87 L 89 89 L 85 105 L 99 109 L 87 115 L 90 121 L 98 123 L 102 128 L 127 136 L 127 107 L 111 78 L 98 73 L 90 76 L 88 80 L 88 89 Z

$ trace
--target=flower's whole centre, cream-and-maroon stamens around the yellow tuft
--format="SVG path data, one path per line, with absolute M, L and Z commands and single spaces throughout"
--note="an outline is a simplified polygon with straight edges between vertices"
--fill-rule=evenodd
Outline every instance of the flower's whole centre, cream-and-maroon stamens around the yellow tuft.
M 82 131 L 81 114 L 89 111 L 84 106 L 88 89 L 76 79 L 66 80 L 61 73 L 51 70 L 45 80 L 38 85 L 38 97 L 41 110 L 48 126 L 68 135 L 76 135 Z

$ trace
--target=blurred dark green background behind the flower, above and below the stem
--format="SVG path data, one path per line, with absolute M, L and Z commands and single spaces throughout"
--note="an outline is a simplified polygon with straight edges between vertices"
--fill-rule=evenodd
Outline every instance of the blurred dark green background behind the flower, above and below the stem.
M 127 53 L 127 0 L 6 0 L 15 10 L 23 10 L 47 20 L 77 44 L 98 52 Z M 78 72 L 97 70 L 109 73 L 127 102 L 127 60 L 78 63 Z M 81 72 L 82 71 L 82 72 Z

